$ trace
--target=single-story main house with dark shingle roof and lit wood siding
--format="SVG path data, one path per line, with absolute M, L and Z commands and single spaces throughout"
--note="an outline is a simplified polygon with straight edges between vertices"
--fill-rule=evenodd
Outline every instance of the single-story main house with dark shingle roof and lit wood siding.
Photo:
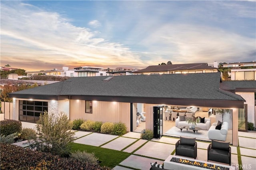
M 153 130 L 153 106 L 166 104 L 232 110 L 232 141 L 238 146 L 241 96 L 220 89 L 220 72 L 134 76 L 74 77 L 66 81 L 10 93 L 13 119 L 35 122 L 44 110 L 64 111 L 70 120 L 122 122 L 136 129 L 138 107 L 146 112 L 146 129 Z

